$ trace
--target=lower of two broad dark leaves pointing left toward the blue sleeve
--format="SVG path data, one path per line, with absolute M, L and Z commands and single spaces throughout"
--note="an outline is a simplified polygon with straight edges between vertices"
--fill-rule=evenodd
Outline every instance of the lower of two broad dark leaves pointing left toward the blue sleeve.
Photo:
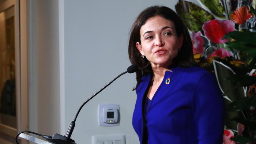
M 227 105 L 227 108 L 232 111 L 251 111 L 256 108 L 256 95 L 251 98 L 239 99 Z

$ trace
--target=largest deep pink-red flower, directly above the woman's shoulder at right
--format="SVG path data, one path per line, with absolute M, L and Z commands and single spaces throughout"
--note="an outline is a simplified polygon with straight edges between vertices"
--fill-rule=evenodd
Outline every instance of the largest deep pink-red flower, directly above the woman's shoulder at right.
M 232 20 L 210 20 L 205 22 L 203 30 L 208 39 L 213 43 L 225 43 L 228 39 L 222 39 L 230 31 L 234 31 L 235 23 Z

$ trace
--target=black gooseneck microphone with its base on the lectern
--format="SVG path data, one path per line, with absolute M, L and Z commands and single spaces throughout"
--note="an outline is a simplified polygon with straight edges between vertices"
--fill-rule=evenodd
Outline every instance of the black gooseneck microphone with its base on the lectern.
M 82 107 L 89 102 L 92 98 L 94 98 L 94 96 L 96 96 L 99 92 L 101 92 L 102 90 L 104 90 L 106 87 L 108 87 L 111 83 L 113 83 L 118 77 L 124 75 L 125 73 L 134 73 L 138 70 L 138 66 L 137 65 L 131 65 L 127 68 L 127 71 L 121 73 L 120 75 L 118 75 L 116 78 L 114 78 L 112 81 L 110 81 L 108 84 L 106 84 L 103 88 L 101 88 L 99 91 L 97 91 L 94 95 L 92 95 L 89 99 L 87 99 L 79 108 L 79 110 L 77 111 L 74 120 L 71 122 L 71 124 L 69 125 L 68 131 L 66 136 L 62 136 L 58 133 L 54 134 L 53 137 L 51 139 L 48 139 L 48 141 L 55 143 L 55 144 L 76 144 L 74 140 L 72 140 L 71 134 L 75 128 L 75 121 L 76 118 L 78 117 L 78 114 L 80 112 L 80 110 L 82 109 Z

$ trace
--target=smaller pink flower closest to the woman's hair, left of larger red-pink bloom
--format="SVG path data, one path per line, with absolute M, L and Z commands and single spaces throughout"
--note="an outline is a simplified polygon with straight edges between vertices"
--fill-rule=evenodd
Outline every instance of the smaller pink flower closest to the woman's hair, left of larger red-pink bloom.
M 204 54 L 204 40 L 203 38 L 200 36 L 202 33 L 200 31 L 198 31 L 197 33 L 195 33 L 195 31 L 192 31 L 190 37 L 191 37 L 191 41 L 193 43 L 193 53 L 200 53 L 201 55 Z

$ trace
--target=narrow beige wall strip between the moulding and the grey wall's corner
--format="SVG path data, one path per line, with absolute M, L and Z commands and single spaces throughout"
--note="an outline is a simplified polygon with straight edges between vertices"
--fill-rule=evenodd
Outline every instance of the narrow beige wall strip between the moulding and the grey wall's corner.
M 58 4 L 56 0 L 37 1 L 38 130 L 51 135 L 60 132 Z

